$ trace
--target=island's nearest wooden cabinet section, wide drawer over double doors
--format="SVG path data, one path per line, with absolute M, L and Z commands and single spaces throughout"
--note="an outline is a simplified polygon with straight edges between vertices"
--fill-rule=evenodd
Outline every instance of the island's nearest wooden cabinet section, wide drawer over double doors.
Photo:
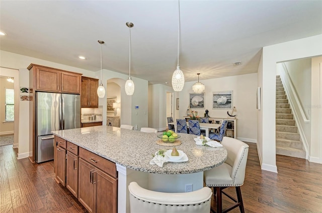
M 90 212 L 117 212 L 115 163 L 79 148 L 78 200 Z

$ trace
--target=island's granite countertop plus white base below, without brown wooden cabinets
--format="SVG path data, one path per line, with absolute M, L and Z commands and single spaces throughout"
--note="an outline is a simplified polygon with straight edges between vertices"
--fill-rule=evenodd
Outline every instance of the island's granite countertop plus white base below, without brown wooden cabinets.
M 223 147 L 197 146 L 196 135 L 180 134 L 181 145 L 189 160 L 166 162 L 163 167 L 150 165 L 152 154 L 159 149 L 172 149 L 156 143 L 155 133 L 95 126 L 54 131 L 54 135 L 97 154 L 116 164 L 118 178 L 118 212 L 129 212 L 128 184 L 138 182 L 142 187 L 168 192 L 184 192 L 185 184 L 193 190 L 203 187 L 203 171 L 222 164 L 227 156 Z

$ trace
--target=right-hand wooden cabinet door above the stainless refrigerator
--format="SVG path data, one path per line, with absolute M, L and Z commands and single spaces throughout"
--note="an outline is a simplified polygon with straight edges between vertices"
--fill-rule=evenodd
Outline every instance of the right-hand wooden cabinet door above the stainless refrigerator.
M 79 94 L 81 92 L 81 75 L 62 72 L 61 92 Z

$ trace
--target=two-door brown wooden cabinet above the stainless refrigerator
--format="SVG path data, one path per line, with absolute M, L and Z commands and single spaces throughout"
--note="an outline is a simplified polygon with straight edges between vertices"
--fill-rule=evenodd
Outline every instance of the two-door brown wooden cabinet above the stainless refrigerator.
M 36 91 L 81 93 L 82 74 L 31 64 L 32 85 Z

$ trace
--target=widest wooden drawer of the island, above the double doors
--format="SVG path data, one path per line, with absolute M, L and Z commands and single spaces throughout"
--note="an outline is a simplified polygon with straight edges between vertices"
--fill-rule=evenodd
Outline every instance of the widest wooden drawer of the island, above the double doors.
M 92 165 L 102 169 L 109 175 L 116 177 L 116 165 L 115 163 L 98 156 L 82 147 L 79 147 L 79 157 L 83 158 L 87 162 L 91 163 Z

